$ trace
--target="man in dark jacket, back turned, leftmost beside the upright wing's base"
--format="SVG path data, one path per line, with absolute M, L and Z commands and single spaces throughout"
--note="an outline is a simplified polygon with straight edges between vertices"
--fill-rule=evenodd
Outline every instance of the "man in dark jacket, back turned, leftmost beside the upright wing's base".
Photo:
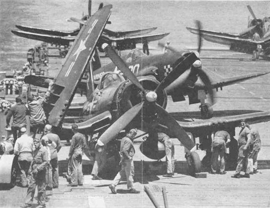
M 11 109 L 6 115 L 6 128 L 9 127 L 11 116 L 13 116 L 11 131 L 13 133 L 14 142 L 16 142 L 17 138 L 21 136 L 21 127 L 26 127 L 27 113 L 27 108 L 24 103 L 22 103 L 21 97 L 16 97 L 16 104 L 11 106 Z

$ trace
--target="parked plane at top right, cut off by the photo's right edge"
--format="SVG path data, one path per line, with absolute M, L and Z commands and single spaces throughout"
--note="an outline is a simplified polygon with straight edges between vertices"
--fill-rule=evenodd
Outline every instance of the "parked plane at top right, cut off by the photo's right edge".
M 270 17 L 257 19 L 251 7 L 249 5 L 247 7 L 253 19 L 249 20 L 248 28 L 239 34 L 191 27 L 187 27 L 187 30 L 193 34 L 201 35 L 210 42 L 229 45 L 232 51 L 254 54 L 256 58 L 259 56 L 268 58 L 267 56 L 270 55 Z

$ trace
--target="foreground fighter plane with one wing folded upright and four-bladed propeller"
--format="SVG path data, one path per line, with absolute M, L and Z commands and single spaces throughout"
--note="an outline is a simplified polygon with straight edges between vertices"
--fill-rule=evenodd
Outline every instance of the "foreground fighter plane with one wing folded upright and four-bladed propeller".
M 228 125 L 228 131 L 234 135 L 234 128 L 241 119 L 245 118 L 251 123 L 270 120 L 270 112 L 262 112 L 211 118 L 199 122 L 176 121 L 165 110 L 167 105 L 165 89 L 178 78 L 177 83 L 181 90 L 192 73 L 200 76 L 213 100 L 212 86 L 208 76 L 200 69 L 199 57 L 188 51 L 178 54 L 171 72 L 159 81 L 153 75 L 139 74 L 136 77 L 125 61 L 109 45 L 104 45 L 104 51 L 123 75 L 108 71 L 101 77 L 96 89 L 93 89 L 93 70 L 88 67 L 88 62 L 94 53 L 111 8 L 111 5 L 107 5 L 87 20 L 66 56 L 59 75 L 54 79 L 45 109 L 50 124 L 55 128 L 62 128 L 60 135 L 70 131 L 71 125 L 77 123 L 80 131 L 85 134 L 93 131 L 102 132 L 97 142 L 97 145 L 102 146 L 109 145 L 120 131 L 135 127 L 149 133 L 141 146 L 141 151 L 147 157 L 161 159 L 165 156 L 165 152 L 159 148 L 156 133 L 165 132 L 185 146 L 187 160 L 191 161 L 190 164 L 195 171 L 200 171 L 201 161 L 198 154 L 193 151 L 196 145 L 189 135 L 203 138 L 213 131 L 213 127 L 223 123 Z M 90 74 L 87 82 L 90 95 L 81 108 L 82 115 L 67 116 L 76 88 L 87 70 Z M 37 80 L 39 79 L 37 76 Z M 27 79 L 25 81 L 27 82 Z M 187 133 L 187 130 L 190 133 Z M 205 143 L 209 144 L 207 140 L 209 138 L 204 139 L 202 142 L 206 141 Z

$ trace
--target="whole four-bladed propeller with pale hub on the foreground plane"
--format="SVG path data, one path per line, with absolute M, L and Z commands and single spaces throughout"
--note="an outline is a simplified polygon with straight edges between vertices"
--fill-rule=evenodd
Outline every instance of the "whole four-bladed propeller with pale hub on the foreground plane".
M 97 145 L 104 145 L 113 139 L 118 132 L 125 129 L 125 127 L 135 118 L 142 110 L 143 121 L 148 125 L 162 125 L 168 127 L 169 135 L 178 138 L 188 150 L 194 147 L 194 143 L 185 132 L 185 130 L 177 123 L 177 121 L 166 112 L 157 101 L 157 91 L 162 91 L 171 84 L 176 78 L 181 76 L 187 68 L 190 68 L 190 63 L 195 63 L 198 57 L 194 53 L 186 54 L 179 58 L 175 64 L 174 69 L 166 76 L 154 91 L 146 91 L 138 81 L 137 77 L 130 71 L 125 62 L 117 55 L 117 53 L 108 45 L 103 45 L 104 51 L 117 65 L 121 72 L 142 92 L 142 102 L 131 107 L 120 118 L 118 118 L 99 138 Z M 185 82 L 186 80 L 184 80 Z M 145 119 L 150 118 L 150 119 Z M 154 122 L 157 121 L 157 122 Z

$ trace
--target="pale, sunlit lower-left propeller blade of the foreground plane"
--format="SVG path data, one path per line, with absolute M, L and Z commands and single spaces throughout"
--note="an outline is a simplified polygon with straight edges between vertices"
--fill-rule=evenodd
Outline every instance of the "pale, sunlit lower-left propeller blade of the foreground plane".
M 121 132 L 132 121 L 132 119 L 142 110 L 144 102 L 141 102 L 126 111 L 117 119 L 98 139 L 97 145 L 103 146 L 115 138 L 117 133 Z

